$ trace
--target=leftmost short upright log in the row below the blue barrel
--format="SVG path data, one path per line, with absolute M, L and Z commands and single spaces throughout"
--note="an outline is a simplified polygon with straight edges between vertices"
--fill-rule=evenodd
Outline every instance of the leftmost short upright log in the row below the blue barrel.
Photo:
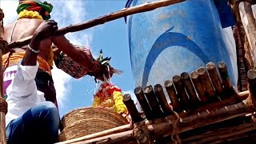
M 123 96 L 123 102 L 126 105 L 130 117 L 132 118 L 134 123 L 142 122 L 144 118 L 142 118 L 141 114 L 138 113 L 136 106 L 134 105 L 134 101 L 131 99 L 130 94 L 125 94 Z

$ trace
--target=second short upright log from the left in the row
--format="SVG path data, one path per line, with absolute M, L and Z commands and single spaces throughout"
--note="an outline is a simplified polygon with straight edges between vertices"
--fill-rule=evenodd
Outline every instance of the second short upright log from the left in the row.
M 146 115 L 146 118 L 149 120 L 154 119 L 152 110 L 150 109 L 149 103 L 146 101 L 146 97 L 143 93 L 142 87 L 138 86 L 137 88 L 135 88 L 134 94 L 136 95 L 138 102 L 142 106 L 142 110 L 143 110 L 144 114 Z

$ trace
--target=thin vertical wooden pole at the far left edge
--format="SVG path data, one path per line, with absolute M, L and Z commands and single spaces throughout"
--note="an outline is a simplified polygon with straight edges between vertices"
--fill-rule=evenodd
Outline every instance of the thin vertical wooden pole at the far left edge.
M 6 144 L 6 113 L 7 102 L 3 98 L 3 71 L 2 71 L 2 51 L 6 50 L 6 41 L 2 39 L 4 14 L 0 9 L 0 143 Z

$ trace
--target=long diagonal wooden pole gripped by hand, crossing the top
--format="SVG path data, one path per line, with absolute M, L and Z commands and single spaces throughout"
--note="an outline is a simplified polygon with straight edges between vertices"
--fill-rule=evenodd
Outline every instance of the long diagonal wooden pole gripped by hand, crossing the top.
M 147 3 L 142 4 L 142 5 L 133 6 L 133 7 L 125 8 L 125 9 L 122 9 L 122 10 L 118 10 L 114 13 L 106 14 L 106 15 L 100 16 L 98 18 L 94 18 L 94 19 L 91 19 L 89 21 L 82 22 L 82 23 L 79 23 L 79 24 L 76 24 L 76 25 L 73 25 L 73 26 L 66 26 L 62 29 L 56 30 L 56 32 L 54 34 L 52 34 L 51 36 L 67 34 L 67 33 L 70 33 L 70 32 L 76 32 L 76 31 L 80 31 L 80 30 L 86 30 L 90 27 L 98 26 L 98 25 L 104 24 L 106 22 L 113 21 L 113 20 L 118 19 L 118 18 L 126 17 L 126 16 L 131 15 L 131 14 L 138 14 L 138 13 L 154 10 L 154 9 L 159 8 L 159 7 L 174 5 L 176 3 L 184 2 L 184 1 L 186 1 L 186 0 L 159 0 L 159 1 L 156 1 L 156 2 L 147 2 Z M 50 35 L 48 37 L 50 37 Z M 46 38 L 48 38 L 48 37 L 46 37 Z M 14 48 L 14 47 L 25 46 L 25 45 L 29 44 L 31 38 L 32 38 L 32 36 L 27 37 L 27 38 L 22 38 L 18 41 L 15 41 L 15 42 L 11 42 L 8 45 L 8 48 L 11 49 L 11 48 Z

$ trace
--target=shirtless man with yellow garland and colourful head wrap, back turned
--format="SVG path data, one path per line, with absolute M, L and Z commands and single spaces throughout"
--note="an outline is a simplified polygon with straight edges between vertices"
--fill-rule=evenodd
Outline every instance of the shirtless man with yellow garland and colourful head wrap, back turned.
M 50 18 L 52 8 L 53 6 L 47 2 L 20 0 L 17 9 L 18 20 L 5 26 L 3 39 L 7 42 L 14 42 L 33 35 L 37 32 L 37 28 L 44 26 L 46 20 Z M 47 35 L 43 37 L 46 36 Z M 35 81 L 38 90 L 45 94 L 46 101 L 54 102 L 57 105 L 54 83 L 50 73 L 54 58 L 54 52 L 49 48 L 52 46 L 52 43 L 54 43 L 59 50 L 62 50 L 63 53 L 72 58 L 74 62 L 77 62 L 80 66 L 87 69 L 90 75 L 96 78 L 101 78 L 103 75 L 109 75 L 108 71 L 98 64 L 98 61 L 89 58 L 86 53 L 82 52 L 82 50 L 75 49 L 64 35 L 43 39 L 38 49 L 40 50 L 38 53 L 39 70 Z M 3 64 L 6 66 L 4 74 L 4 90 L 6 90 L 6 87 L 10 84 L 16 73 L 19 59 L 25 54 L 26 48 L 28 48 L 28 46 L 14 48 L 9 54 L 5 54 L 2 57 Z

